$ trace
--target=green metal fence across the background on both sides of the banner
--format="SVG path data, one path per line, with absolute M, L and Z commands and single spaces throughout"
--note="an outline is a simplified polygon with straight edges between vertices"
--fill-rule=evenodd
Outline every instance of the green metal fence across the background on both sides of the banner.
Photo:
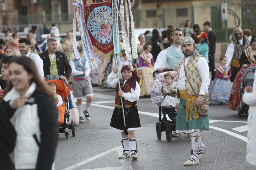
M 226 2 L 228 4 L 228 35 L 236 26 L 242 29 L 248 28 L 252 35 L 256 35 L 256 0 L 186 2 L 188 4 L 186 6 L 165 5 L 160 8 L 133 10 L 135 28 L 166 28 L 167 25 L 183 28 L 185 21 L 189 19 L 203 29 L 203 23 L 210 21 L 216 33 L 217 42 L 227 42 L 225 41 L 225 22 L 221 20 L 221 3 Z M 13 23 L 14 25 L 55 23 L 60 32 L 64 33 L 72 30 L 73 14 L 19 16 L 13 18 Z

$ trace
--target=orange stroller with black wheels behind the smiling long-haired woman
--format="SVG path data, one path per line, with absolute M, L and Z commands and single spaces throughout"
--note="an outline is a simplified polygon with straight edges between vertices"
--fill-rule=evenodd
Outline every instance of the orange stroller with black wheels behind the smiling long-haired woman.
M 72 136 L 76 136 L 74 120 L 69 123 L 69 89 L 62 80 L 49 80 L 46 83 L 53 83 L 56 86 L 56 93 L 61 96 L 63 104 L 58 107 L 59 112 L 59 133 L 64 133 L 66 138 L 69 136 L 69 129 L 72 131 Z

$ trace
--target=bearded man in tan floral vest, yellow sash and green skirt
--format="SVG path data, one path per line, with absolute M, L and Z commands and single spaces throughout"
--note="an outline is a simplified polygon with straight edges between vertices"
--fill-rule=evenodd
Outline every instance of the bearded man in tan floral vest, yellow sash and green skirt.
M 208 86 L 210 84 L 208 63 L 191 37 L 180 42 L 184 57 L 177 68 L 176 133 L 186 133 L 191 139 L 192 150 L 189 160 L 183 165 L 196 165 L 206 151 L 201 142 L 201 133 L 209 129 Z M 185 68 L 185 69 L 184 69 Z

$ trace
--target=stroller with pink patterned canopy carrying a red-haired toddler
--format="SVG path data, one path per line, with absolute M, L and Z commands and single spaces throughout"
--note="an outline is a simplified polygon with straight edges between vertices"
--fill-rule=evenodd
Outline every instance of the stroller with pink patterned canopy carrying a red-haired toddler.
M 172 71 L 172 69 L 166 69 L 164 71 Z M 153 77 L 155 77 L 156 72 L 157 71 L 153 73 Z M 158 81 L 155 81 L 155 79 L 158 79 Z M 177 81 L 176 72 L 166 72 L 158 74 L 152 82 L 152 88 L 154 88 L 154 83 L 158 82 L 159 84 L 154 89 L 154 93 L 151 94 L 152 102 L 159 106 L 159 122 L 156 124 L 157 138 L 161 139 L 161 134 L 165 131 L 168 142 L 172 140 L 172 136 L 181 135 L 175 132 L 175 105 L 177 103 L 175 96 L 177 82 L 175 82 L 175 80 Z M 166 114 L 170 120 L 167 120 Z

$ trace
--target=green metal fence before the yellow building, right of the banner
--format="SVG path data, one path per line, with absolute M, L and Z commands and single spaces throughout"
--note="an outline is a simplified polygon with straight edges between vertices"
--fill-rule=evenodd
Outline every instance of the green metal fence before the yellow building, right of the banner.
M 195 4 L 194 4 L 195 2 Z M 217 42 L 225 41 L 225 22 L 221 20 L 221 3 L 228 4 L 228 35 L 236 26 L 250 29 L 256 35 L 256 1 L 193 1 L 186 6 L 162 6 L 158 9 L 135 9 L 133 19 L 136 28 L 166 28 L 167 25 L 183 28 L 186 20 L 199 24 L 210 21 Z M 188 2 L 189 3 L 189 2 Z

